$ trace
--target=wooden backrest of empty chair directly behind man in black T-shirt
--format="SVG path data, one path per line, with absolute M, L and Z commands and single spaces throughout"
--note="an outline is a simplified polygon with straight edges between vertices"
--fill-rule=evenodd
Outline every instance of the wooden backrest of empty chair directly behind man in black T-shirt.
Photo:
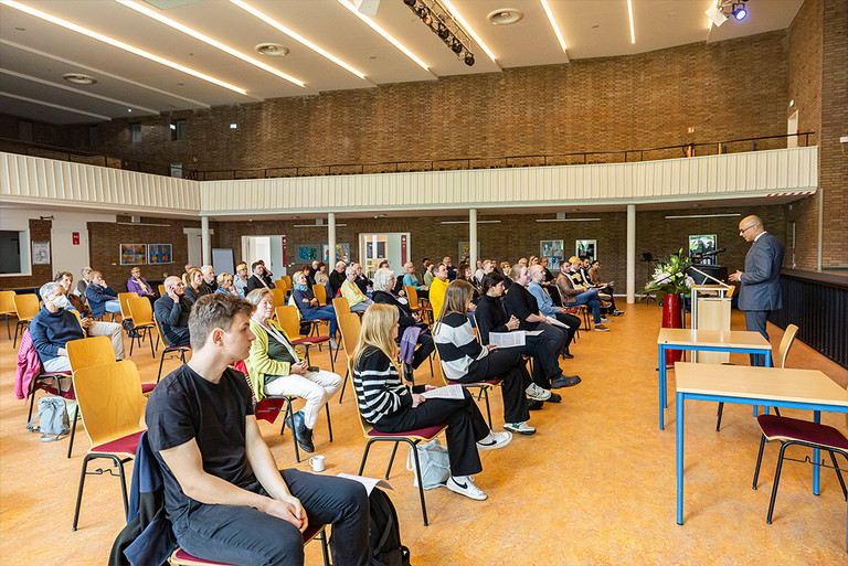
M 112 362 L 74 372 L 74 392 L 92 446 L 144 430 L 145 398 L 132 362 Z

